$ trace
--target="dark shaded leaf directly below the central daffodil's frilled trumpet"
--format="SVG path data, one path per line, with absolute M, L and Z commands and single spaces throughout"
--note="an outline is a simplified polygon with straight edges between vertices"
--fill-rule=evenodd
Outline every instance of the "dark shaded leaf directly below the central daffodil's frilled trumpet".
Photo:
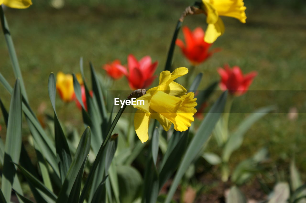
M 176 131 L 170 138 L 167 151 L 159 166 L 159 190 L 172 176 L 180 164 L 188 144 L 189 130 L 184 132 Z

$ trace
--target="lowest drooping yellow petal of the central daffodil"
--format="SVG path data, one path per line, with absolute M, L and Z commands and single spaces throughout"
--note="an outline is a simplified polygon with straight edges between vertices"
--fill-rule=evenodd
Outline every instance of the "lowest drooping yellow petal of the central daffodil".
M 148 129 L 150 123 L 150 116 L 147 113 L 137 110 L 134 116 L 134 127 L 136 134 L 142 143 L 149 139 Z

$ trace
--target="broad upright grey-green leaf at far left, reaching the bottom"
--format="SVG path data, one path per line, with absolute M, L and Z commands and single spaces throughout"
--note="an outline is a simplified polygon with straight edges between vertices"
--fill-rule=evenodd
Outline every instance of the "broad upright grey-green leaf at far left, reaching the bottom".
M 6 131 L 5 153 L 3 158 L 2 190 L 7 202 L 11 199 L 11 190 L 16 173 L 12 162 L 19 162 L 22 140 L 22 111 L 21 92 L 19 79 L 16 80 L 11 103 Z

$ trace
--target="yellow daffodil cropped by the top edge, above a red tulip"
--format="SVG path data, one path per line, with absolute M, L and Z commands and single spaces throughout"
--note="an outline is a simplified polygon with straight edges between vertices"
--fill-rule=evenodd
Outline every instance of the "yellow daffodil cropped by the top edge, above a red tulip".
M 204 41 L 213 43 L 224 33 L 224 24 L 219 16 L 237 18 L 241 23 L 245 23 L 247 18 L 243 0 L 202 0 L 203 10 L 207 15 L 208 23 Z

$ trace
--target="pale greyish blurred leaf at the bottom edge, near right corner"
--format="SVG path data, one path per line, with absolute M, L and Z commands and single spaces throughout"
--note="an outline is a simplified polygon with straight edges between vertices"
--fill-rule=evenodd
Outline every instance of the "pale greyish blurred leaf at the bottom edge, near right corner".
M 287 202 L 290 194 L 288 183 L 277 183 L 274 186 L 273 194 L 268 203 Z

